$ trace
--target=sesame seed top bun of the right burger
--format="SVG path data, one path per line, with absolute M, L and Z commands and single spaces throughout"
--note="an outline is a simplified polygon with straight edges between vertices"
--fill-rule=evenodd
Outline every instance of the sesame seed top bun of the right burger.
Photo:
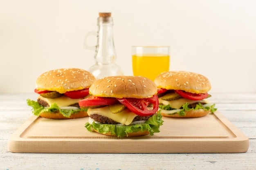
M 187 71 L 166 71 L 159 74 L 154 82 L 158 88 L 182 90 L 196 94 L 207 93 L 211 89 L 207 77 Z

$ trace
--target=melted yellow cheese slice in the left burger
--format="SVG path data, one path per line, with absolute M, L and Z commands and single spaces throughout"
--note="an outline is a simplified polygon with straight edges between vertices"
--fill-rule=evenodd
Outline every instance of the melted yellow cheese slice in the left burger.
M 70 106 L 72 104 L 78 103 L 78 101 L 81 100 L 81 99 L 71 99 L 64 95 L 55 99 L 48 99 L 39 95 L 38 99 L 42 99 L 43 101 L 47 102 L 49 106 L 51 106 L 53 103 L 56 103 L 58 104 L 59 107 Z

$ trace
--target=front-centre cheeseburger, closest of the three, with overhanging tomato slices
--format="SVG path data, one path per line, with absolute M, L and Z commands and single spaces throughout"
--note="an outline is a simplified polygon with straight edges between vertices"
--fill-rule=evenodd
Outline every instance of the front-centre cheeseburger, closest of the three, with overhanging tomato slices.
M 79 101 L 88 108 L 88 131 L 115 137 L 153 135 L 159 132 L 157 86 L 145 77 L 113 76 L 95 81 L 92 95 Z

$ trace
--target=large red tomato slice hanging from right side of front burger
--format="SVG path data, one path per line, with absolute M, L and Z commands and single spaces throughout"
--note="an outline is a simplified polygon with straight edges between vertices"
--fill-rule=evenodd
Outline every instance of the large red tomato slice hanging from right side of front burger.
M 139 116 L 150 116 L 157 112 L 158 110 L 158 97 L 153 95 L 153 97 L 146 99 L 135 99 L 135 98 L 121 98 L 117 99 L 121 104 L 124 104 L 129 110 Z M 153 104 L 153 110 L 148 110 L 148 104 Z

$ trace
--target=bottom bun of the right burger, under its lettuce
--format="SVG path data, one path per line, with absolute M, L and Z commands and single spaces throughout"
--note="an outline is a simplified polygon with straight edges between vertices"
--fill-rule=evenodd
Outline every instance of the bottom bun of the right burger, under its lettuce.
M 198 110 L 190 110 L 190 111 L 185 111 L 185 116 L 180 116 L 179 114 L 166 114 L 166 113 L 161 113 L 162 116 L 164 117 L 175 117 L 175 118 L 192 118 L 192 117 L 203 117 L 207 114 L 209 114 L 211 110 L 203 110 L 203 109 L 198 109 Z

